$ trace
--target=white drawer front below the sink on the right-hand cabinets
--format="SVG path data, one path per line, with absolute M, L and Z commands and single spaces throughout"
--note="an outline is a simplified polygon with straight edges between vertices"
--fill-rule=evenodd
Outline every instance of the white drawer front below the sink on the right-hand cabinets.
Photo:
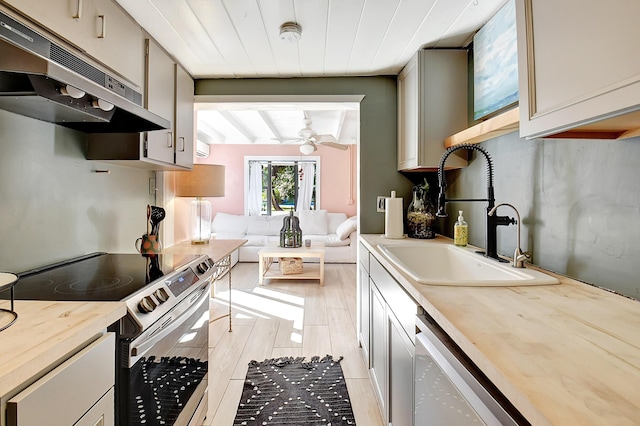
M 389 309 L 398 319 L 407 336 L 415 343 L 416 320 L 418 304 L 409 296 L 402 286 L 387 272 L 376 260 L 370 257 L 371 271 L 369 272 L 373 283 L 380 291 Z

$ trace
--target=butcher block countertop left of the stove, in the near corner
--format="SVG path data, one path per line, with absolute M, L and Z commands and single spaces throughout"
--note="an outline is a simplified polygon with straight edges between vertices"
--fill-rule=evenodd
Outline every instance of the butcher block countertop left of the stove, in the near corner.
M 0 301 L 9 309 L 10 302 Z M 0 397 L 50 370 L 125 316 L 122 302 L 15 302 L 17 321 L 0 331 Z M 9 322 L 0 313 L 0 324 Z

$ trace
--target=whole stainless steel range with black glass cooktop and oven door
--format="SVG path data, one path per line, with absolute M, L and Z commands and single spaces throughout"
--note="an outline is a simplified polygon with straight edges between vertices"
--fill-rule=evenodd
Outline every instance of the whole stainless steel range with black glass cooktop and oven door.
M 19 274 L 16 299 L 123 301 L 116 423 L 195 425 L 207 411 L 209 298 L 205 255 L 93 253 Z

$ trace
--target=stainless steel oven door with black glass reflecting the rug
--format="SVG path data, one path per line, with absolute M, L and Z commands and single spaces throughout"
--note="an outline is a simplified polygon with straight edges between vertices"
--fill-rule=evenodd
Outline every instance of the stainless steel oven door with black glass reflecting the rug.
M 207 412 L 210 283 L 160 321 L 121 339 L 122 425 L 196 425 Z M 125 395 L 124 393 L 128 393 Z

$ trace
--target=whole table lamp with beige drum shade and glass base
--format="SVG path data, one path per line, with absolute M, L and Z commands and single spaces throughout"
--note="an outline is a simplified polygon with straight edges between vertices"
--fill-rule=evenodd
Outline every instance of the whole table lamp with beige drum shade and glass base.
M 224 166 L 194 164 L 190 172 L 176 172 L 175 195 L 196 197 L 191 202 L 189 215 L 191 244 L 208 244 L 211 239 L 211 203 L 203 197 L 224 196 Z

